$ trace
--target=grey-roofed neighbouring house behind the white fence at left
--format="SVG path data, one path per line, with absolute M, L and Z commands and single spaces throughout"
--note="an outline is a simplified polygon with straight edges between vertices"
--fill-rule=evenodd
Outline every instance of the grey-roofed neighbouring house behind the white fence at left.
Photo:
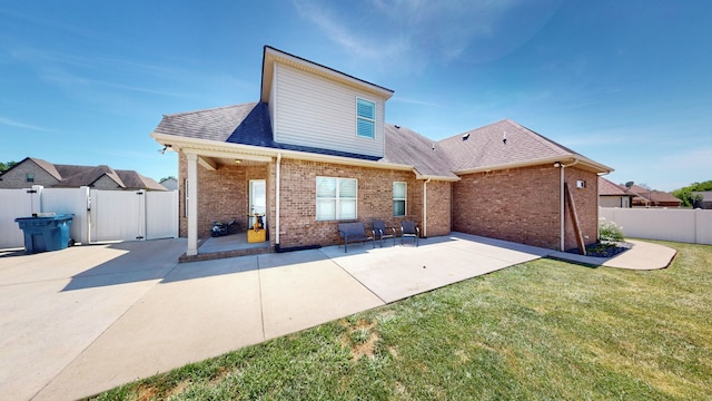
M 47 188 L 78 188 L 88 186 L 112 190 L 167 190 L 156 180 L 135 170 L 117 170 L 109 166 L 56 165 L 26 157 L 0 175 L 0 188 L 29 188 L 41 185 Z

